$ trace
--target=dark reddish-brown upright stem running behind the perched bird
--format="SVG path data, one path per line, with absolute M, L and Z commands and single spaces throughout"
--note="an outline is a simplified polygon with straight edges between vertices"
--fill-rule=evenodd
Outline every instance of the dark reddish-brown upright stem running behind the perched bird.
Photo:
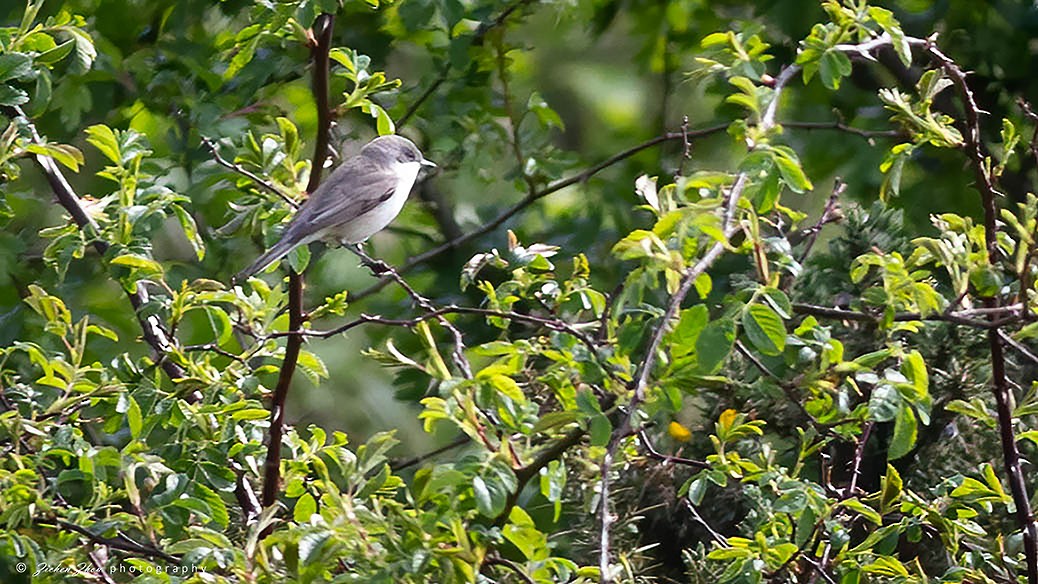
M 328 158 L 328 137 L 331 127 L 331 110 L 328 107 L 328 51 L 331 49 L 331 32 L 334 17 L 322 13 L 313 22 L 312 47 L 313 98 L 318 106 L 318 135 L 313 146 L 313 163 L 306 192 L 312 193 L 321 184 L 321 173 Z M 299 331 L 306 319 L 303 314 L 303 276 L 289 272 L 289 330 Z M 284 434 L 284 404 L 289 397 L 292 376 L 296 372 L 302 335 L 292 335 L 284 345 L 284 360 L 274 388 L 270 406 L 270 437 L 267 443 L 267 461 L 264 463 L 263 506 L 269 507 L 277 500 L 281 482 L 281 438 Z M 268 527 L 265 534 L 270 533 Z

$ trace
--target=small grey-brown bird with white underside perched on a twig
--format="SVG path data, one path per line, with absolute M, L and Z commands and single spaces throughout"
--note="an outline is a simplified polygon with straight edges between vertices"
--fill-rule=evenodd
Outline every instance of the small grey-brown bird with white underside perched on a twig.
M 310 242 L 363 243 L 397 218 L 424 166 L 436 164 L 402 136 L 380 136 L 364 144 L 313 191 L 281 239 L 233 281 L 244 281 Z

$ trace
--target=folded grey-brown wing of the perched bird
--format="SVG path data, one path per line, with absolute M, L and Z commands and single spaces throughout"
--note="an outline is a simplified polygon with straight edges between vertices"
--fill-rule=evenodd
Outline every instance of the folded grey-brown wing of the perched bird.
M 360 157 L 347 160 L 310 195 L 292 220 L 284 239 L 340 225 L 372 211 L 392 196 L 397 176 Z

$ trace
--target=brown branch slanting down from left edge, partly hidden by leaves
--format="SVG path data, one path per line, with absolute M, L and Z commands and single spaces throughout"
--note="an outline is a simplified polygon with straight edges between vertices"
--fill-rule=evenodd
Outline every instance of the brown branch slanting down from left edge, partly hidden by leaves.
M 36 144 L 42 144 L 43 139 L 36 132 L 35 124 L 29 120 L 25 112 L 22 111 L 18 106 L 7 107 L 4 106 L 0 108 L 4 115 L 16 118 L 21 117 L 25 119 L 26 128 L 32 135 L 32 141 Z M 88 239 L 92 240 L 93 249 L 104 257 L 108 252 L 109 245 L 108 242 L 100 238 L 100 229 L 98 224 L 93 221 L 93 218 L 83 208 L 80 202 L 79 195 L 73 190 L 69 180 L 65 179 L 64 174 L 61 169 L 58 168 L 54 159 L 44 155 L 35 155 L 34 159 L 36 164 L 44 172 L 44 176 L 51 186 L 51 190 L 54 191 L 54 196 L 57 197 L 58 203 L 64 207 L 69 215 L 72 216 L 73 221 L 76 225 L 86 233 Z M 147 290 L 142 285 L 136 286 L 136 291 L 127 290 L 127 296 L 130 299 L 130 305 L 133 306 L 134 314 L 137 316 L 137 322 L 140 324 L 141 333 L 144 337 L 144 341 L 152 347 L 155 353 L 156 363 L 162 367 L 166 376 L 171 381 L 176 381 L 187 377 L 184 368 L 181 367 L 176 362 L 170 359 L 170 355 L 173 351 L 173 340 L 171 339 L 169 333 L 166 331 L 165 326 L 159 316 L 152 314 L 149 316 L 144 316 L 140 313 L 140 308 L 147 304 L 148 295 Z M 198 392 L 192 392 L 188 399 L 191 401 L 197 401 L 201 399 L 201 394 Z

